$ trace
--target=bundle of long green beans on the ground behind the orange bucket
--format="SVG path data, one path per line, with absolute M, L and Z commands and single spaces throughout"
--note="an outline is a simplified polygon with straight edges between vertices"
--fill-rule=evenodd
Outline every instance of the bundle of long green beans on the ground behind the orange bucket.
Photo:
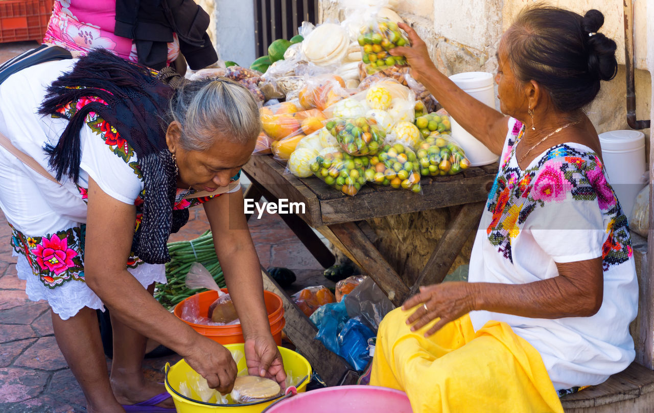
M 199 262 L 213 276 L 221 288 L 225 287 L 225 278 L 222 276 L 222 268 L 216 257 L 216 250 L 211 238 L 211 231 L 207 231 L 195 240 L 177 241 L 168 243 L 168 252 L 171 260 L 165 264 L 165 277 L 167 284 L 156 284 L 154 298 L 166 308 L 171 308 L 177 303 L 195 293 L 207 291 L 206 289 L 188 289 L 186 287 L 186 274 L 194 262 Z

